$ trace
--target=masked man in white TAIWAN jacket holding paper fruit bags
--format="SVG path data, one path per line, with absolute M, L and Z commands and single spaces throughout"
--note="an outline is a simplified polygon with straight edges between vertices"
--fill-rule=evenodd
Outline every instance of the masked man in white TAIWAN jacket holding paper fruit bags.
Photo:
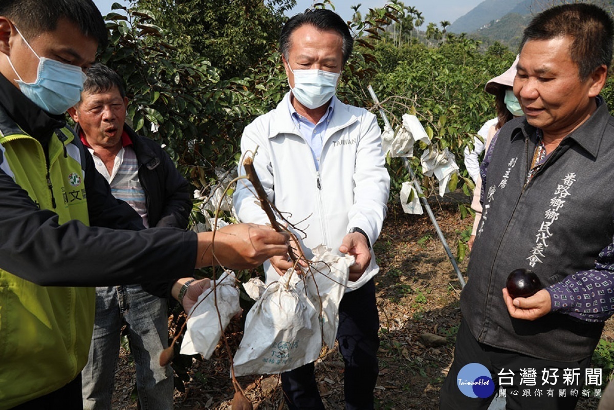
M 375 115 L 335 97 L 352 42 L 346 23 L 330 10 L 290 18 L 280 49 L 291 91 L 245 128 L 241 151 L 257 150 L 254 166 L 268 199 L 300 230 L 307 258 L 319 244 L 356 257 L 337 340 L 346 409 L 373 409 L 379 346 L 373 276 L 379 268 L 371 247 L 386 217 L 390 177 Z M 234 200 L 242 221 L 268 222 L 249 183 L 239 182 Z M 265 262 L 267 282 L 291 266 L 288 258 L 271 258 Z M 282 385 L 290 409 L 324 409 L 313 363 L 283 373 Z

